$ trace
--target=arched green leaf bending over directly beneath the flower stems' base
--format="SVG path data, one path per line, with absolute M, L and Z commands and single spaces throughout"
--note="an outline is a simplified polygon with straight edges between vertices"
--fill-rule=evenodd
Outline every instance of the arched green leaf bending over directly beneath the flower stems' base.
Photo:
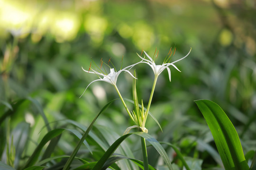
M 150 136 L 144 132 L 134 132 L 130 134 L 123 135 L 119 137 L 111 146 L 110 148 L 104 153 L 104 155 L 101 157 L 101 159 L 97 162 L 97 164 L 93 167 L 92 170 L 101 170 L 104 166 L 105 162 L 109 159 L 109 157 L 115 152 L 115 150 L 119 147 L 119 145 L 130 135 L 138 135 L 141 137 L 144 137 L 150 144 L 152 144 L 156 151 L 162 156 L 163 160 L 165 161 L 166 165 L 168 166 L 169 170 L 173 170 L 171 161 L 169 160 L 169 157 L 167 153 L 165 152 L 165 149 L 162 147 L 159 142 L 153 137 Z M 104 170 L 104 169 L 102 169 Z

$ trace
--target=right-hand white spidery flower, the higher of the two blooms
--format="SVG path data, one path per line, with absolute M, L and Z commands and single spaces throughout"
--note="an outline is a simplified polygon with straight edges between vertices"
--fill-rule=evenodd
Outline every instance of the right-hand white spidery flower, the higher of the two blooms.
M 192 48 L 190 49 L 190 51 L 191 51 L 191 50 L 192 50 Z M 190 53 L 190 51 L 189 51 L 189 53 Z M 178 61 L 180 61 L 180 60 L 182 60 L 182 59 L 184 59 L 184 58 L 186 58 L 186 57 L 189 55 L 189 53 L 188 53 L 185 57 L 183 57 L 183 58 L 181 58 L 181 59 L 178 59 L 178 60 L 176 60 L 176 61 L 174 61 L 174 62 L 172 62 L 172 63 L 166 63 L 166 62 L 164 62 L 162 65 L 156 65 L 156 64 L 155 64 L 155 60 L 153 60 L 151 57 L 149 57 L 149 55 L 146 53 L 146 51 L 144 51 L 144 53 L 146 54 L 146 57 L 147 57 L 148 59 L 142 58 L 141 56 L 139 56 L 139 55 L 137 54 L 141 59 L 143 59 L 143 61 L 141 61 L 141 62 L 148 64 L 148 65 L 152 68 L 152 70 L 154 71 L 155 76 L 159 76 L 159 75 L 165 70 L 165 68 L 166 68 L 167 71 L 168 71 L 168 74 L 169 74 L 169 80 L 170 80 L 170 81 L 171 81 L 171 70 L 170 70 L 169 66 L 173 66 L 173 67 L 176 68 L 179 72 L 181 72 L 181 71 L 174 65 L 174 63 L 175 63 L 175 62 L 178 62 Z

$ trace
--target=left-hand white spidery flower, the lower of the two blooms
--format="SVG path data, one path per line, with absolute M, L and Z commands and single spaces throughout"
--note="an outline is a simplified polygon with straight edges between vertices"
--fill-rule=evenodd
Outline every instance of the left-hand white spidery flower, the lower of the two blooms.
M 140 62 L 142 62 L 142 61 L 140 61 Z M 117 86 L 116 84 L 117 84 L 118 76 L 119 76 L 119 74 L 120 74 L 122 71 L 128 72 L 133 78 L 136 78 L 135 76 L 133 76 L 133 75 L 129 72 L 129 70 L 130 70 L 133 66 L 137 65 L 137 64 L 140 63 L 140 62 L 137 62 L 136 64 L 132 64 L 132 65 L 126 67 L 126 68 L 120 69 L 118 72 L 116 72 L 114 68 L 110 68 L 110 73 L 109 73 L 109 74 L 105 74 L 104 72 L 97 72 L 97 71 L 95 71 L 95 70 L 92 69 L 92 68 L 90 68 L 89 70 L 85 70 L 85 69 L 83 69 L 83 68 L 82 68 L 82 69 L 83 69 L 83 71 L 85 71 L 85 72 L 92 73 L 92 74 L 96 74 L 96 75 L 100 78 L 100 79 L 97 79 L 97 80 L 93 80 L 89 85 L 91 85 L 93 82 L 96 82 L 96 81 L 104 81 L 104 82 L 110 83 L 111 85 L 114 85 L 114 86 L 116 87 L 116 86 Z M 92 71 L 90 71 L 90 70 L 92 70 Z M 100 76 L 102 76 L 103 78 L 101 78 Z M 136 79 L 137 79 L 137 78 L 136 78 Z M 89 87 L 89 85 L 86 87 L 86 89 Z M 86 89 L 84 90 L 84 92 L 86 91 Z M 84 94 L 84 92 L 82 93 L 82 95 Z M 81 95 L 81 96 L 82 96 L 82 95 Z M 80 97 L 81 97 L 81 96 L 80 96 Z

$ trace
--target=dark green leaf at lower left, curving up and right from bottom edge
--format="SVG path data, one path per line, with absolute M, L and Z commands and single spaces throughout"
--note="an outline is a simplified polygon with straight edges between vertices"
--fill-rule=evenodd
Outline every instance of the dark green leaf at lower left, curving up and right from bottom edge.
M 54 129 L 54 130 L 51 130 L 50 132 L 48 132 L 44 137 L 43 139 L 41 140 L 41 142 L 37 145 L 37 148 L 35 149 L 34 153 L 30 156 L 30 158 L 28 159 L 26 165 L 24 168 L 28 168 L 32 165 L 34 165 L 40 155 L 40 152 L 42 151 L 44 145 L 49 141 L 51 140 L 52 138 L 56 137 L 56 136 L 59 136 L 62 134 L 64 129 Z

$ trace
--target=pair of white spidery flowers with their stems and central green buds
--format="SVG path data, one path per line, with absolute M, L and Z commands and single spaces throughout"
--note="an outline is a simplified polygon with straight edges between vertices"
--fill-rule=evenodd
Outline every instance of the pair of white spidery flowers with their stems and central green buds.
M 90 65 L 89 70 L 85 70 L 85 69 L 82 68 L 83 71 L 88 72 L 88 73 L 91 73 L 91 74 L 95 74 L 95 75 L 97 75 L 97 76 L 99 77 L 99 79 L 96 79 L 96 80 L 92 81 L 89 85 L 87 85 L 87 87 L 85 88 L 85 90 L 84 90 L 84 92 L 82 93 L 82 95 L 85 93 L 85 91 L 87 90 L 87 88 L 88 88 L 93 82 L 96 82 L 96 81 L 104 81 L 104 82 L 107 82 L 107 83 L 113 85 L 113 86 L 115 87 L 117 93 L 119 94 L 119 97 L 120 97 L 120 99 L 121 99 L 121 101 L 122 101 L 122 103 L 123 103 L 125 109 L 127 110 L 129 117 L 130 117 L 130 118 L 134 121 L 134 123 L 136 124 L 136 125 L 134 125 L 134 126 L 128 127 L 125 133 L 128 133 L 128 132 L 130 131 L 130 129 L 131 129 L 131 128 L 134 128 L 134 127 L 137 127 L 137 128 L 139 128 L 141 131 L 147 133 L 147 129 L 146 129 L 146 127 L 145 127 L 145 124 L 146 124 L 147 115 L 148 115 L 148 113 L 149 113 L 149 108 L 150 108 L 150 105 L 151 105 L 151 101 L 152 101 L 152 98 L 153 98 L 153 94 L 154 94 L 154 91 L 155 91 L 155 85 L 156 85 L 156 81 L 157 81 L 158 76 L 159 76 L 165 69 L 167 69 L 168 74 L 169 74 L 169 80 L 171 81 L 171 70 L 170 70 L 169 66 L 173 66 L 175 69 L 177 69 L 178 71 L 180 71 L 180 70 L 174 65 L 174 63 L 176 63 L 176 62 L 178 62 L 178 61 L 180 61 L 180 60 L 186 58 L 186 57 L 190 54 L 191 49 L 190 49 L 190 51 L 188 52 L 188 54 L 187 54 L 186 56 L 184 56 L 183 58 L 171 62 L 172 56 L 174 56 L 175 51 L 176 51 L 176 48 L 175 48 L 173 51 L 172 51 L 172 48 L 170 49 L 170 51 L 169 51 L 168 55 L 165 57 L 165 60 L 164 60 L 164 62 L 163 62 L 162 65 L 156 65 L 156 64 L 155 64 L 155 59 L 157 58 L 158 53 L 157 53 L 156 57 L 155 57 L 155 54 L 154 54 L 153 58 L 151 58 L 151 57 L 146 53 L 146 51 L 142 51 L 141 55 L 142 55 L 143 52 L 144 52 L 144 54 L 145 54 L 144 57 L 141 57 L 141 55 L 138 55 L 138 54 L 137 54 L 138 57 L 141 59 L 141 61 L 139 61 L 139 62 L 137 62 L 137 63 L 135 63 L 135 64 L 132 64 L 132 65 L 126 67 L 126 68 L 120 69 L 119 71 L 117 71 L 115 67 L 114 67 L 114 68 L 111 68 L 108 64 L 104 63 L 104 62 L 102 61 L 102 59 L 101 59 L 101 67 L 100 67 L 100 68 L 99 68 L 95 63 L 94 63 L 94 64 L 95 64 L 96 68 L 91 68 L 91 65 Z M 146 57 L 147 57 L 147 59 L 146 59 Z M 110 60 L 109 60 L 109 61 L 110 61 Z M 111 61 L 110 61 L 110 62 L 111 62 Z M 110 67 L 110 73 L 109 73 L 109 74 L 106 73 L 106 69 L 104 68 L 104 65 L 103 65 L 103 69 L 104 69 L 104 70 L 102 69 L 102 64 L 103 64 L 103 63 L 104 63 L 105 65 L 107 65 L 108 67 Z M 154 74 L 155 74 L 155 79 L 154 79 L 154 83 L 153 83 L 153 87 L 152 87 L 152 91 L 151 91 L 151 94 L 150 94 L 150 97 L 149 97 L 149 101 L 148 101 L 148 104 L 147 104 L 146 111 L 144 110 L 143 102 L 141 102 L 141 105 L 138 104 L 138 100 L 137 100 L 137 91 L 136 91 L 136 83 L 135 83 L 135 82 L 136 82 L 135 79 L 137 79 L 137 78 L 136 78 L 136 75 L 135 75 L 135 73 L 134 73 L 134 76 L 133 76 L 133 75 L 131 74 L 131 72 L 129 71 L 131 68 L 133 68 L 134 66 L 136 66 L 136 65 L 139 64 L 139 63 L 146 63 L 146 64 L 148 64 L 148 65 L 152 68 L 152 70 L 153 70 L 153 72 L 154 72 Z M 90 70 L 91 70 L 91 71 L 90 71 Z M 134 82 L 133 82 L 133 102 L 134 102 L 135 110 L 133 110 L 133 111 L 129 111 L 129 109 L 128 109 L 128 107 L 127 107 L 127 105 L 126 105 L 126 103 L 125 103 L 125 101 L 124 101 L 124 99 L 123 99 L 121 93 L 119 92 L 118 86 L 117 86 L 117 79 L 118 79 L 118 76 L 119 76 L 120 73 L 123 72 L 123 71 L 124 71 L 124 72 L 127 72 L 130 76 L 132 76 L 132 77 L 134 78 Z M 181 72 L 181 71 L 180 71 L 180 72 Z M 82 95 L 81 95 L 81 96 L 82 96 Z M 80 96 L 80 97 L 81 97 L 81 96 Z M 151 115 L 151 116 L 152 116 L 152 115 Z M 153 117 L 153 116 L 152 116 L 152 117 Z M 153 117 L 153 119 L 155 119 L 155 118 Z M 155 121 L 156 121 L 156 123 L 159 125 L 159 123 L 157 122 L 156 119 L 155 119 Z M 159 126 L 160 126 L 160 125 L 159 125 Z M 160 127 L 160 128 L 161 128 L 161 127 Z

